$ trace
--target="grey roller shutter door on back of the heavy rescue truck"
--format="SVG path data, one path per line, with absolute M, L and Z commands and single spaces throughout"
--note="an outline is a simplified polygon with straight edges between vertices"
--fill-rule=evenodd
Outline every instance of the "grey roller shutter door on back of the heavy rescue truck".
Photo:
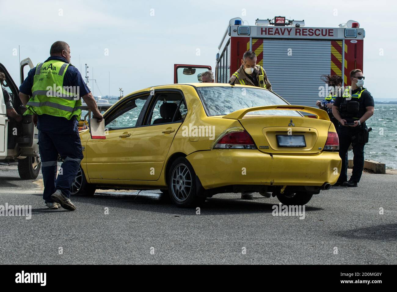
M 342 75 L 341 46 L 341 41 L 252 39 L 257 63 L 266 70 L 272 90 L 291 104 L 314 107 L 322 99 L 321 75 Z

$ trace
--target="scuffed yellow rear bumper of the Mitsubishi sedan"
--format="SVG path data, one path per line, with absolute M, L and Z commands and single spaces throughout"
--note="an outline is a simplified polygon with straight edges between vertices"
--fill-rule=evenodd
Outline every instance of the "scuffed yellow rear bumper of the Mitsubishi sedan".
M 272 157 L 258 150 L 213 149 L 186 158 L 206 190 L 231 185 L 332 185 L 342 165 L 337 152 Z

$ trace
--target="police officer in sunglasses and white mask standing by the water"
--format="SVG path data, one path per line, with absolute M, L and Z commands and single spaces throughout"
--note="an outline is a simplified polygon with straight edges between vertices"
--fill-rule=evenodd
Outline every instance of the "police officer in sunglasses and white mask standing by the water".
M 341 97 L 333 102 L 333 116 L 340 122 L 339 156 L 342 159 L 342 169 L 337 185 L 357 187 L 364 168 L 364 145 L 368 142 L 368 128 L 365 121 L 374 114 L 374 99 L 371 93 L 363 87 L 365 77 L 360 69 L 350 72 L 351 86 L 347 86 Z M 349 181 L 345 169 L 345 155 L 353 145 L 353 174 Z

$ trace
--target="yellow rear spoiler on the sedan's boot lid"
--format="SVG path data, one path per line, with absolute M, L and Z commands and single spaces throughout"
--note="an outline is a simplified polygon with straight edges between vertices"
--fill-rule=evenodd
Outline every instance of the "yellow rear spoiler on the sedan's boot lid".
M 301 112 L 308 112 L 310 114 L 315 114 L 318 119 L 330 121 L 330 117 L 328 116 L 325 110 L 320 110 L 320 108 L 314 108 L 311 106 L 297 106 L 297 105 L 269 105 L 269 106 L 256 106 L 253 108 L 243 108 L 242 110 L 236 110 L 230 114 L 223 116 L 225 119 L 233 119 L 239 120 L 243 118 L 247 113 L 254 112 L 257 110 L 299 110 Z

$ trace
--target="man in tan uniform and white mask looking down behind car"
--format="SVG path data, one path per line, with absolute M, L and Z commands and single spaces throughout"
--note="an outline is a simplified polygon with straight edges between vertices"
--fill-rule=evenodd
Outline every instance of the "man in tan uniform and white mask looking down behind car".
M 272 85 L 265 70 L 262 66 L 256 65 L 256 54 L 252 51 L 244 53 L 241 66 L 231 75 L 229 83 L 252 85 L 272 90 Z

